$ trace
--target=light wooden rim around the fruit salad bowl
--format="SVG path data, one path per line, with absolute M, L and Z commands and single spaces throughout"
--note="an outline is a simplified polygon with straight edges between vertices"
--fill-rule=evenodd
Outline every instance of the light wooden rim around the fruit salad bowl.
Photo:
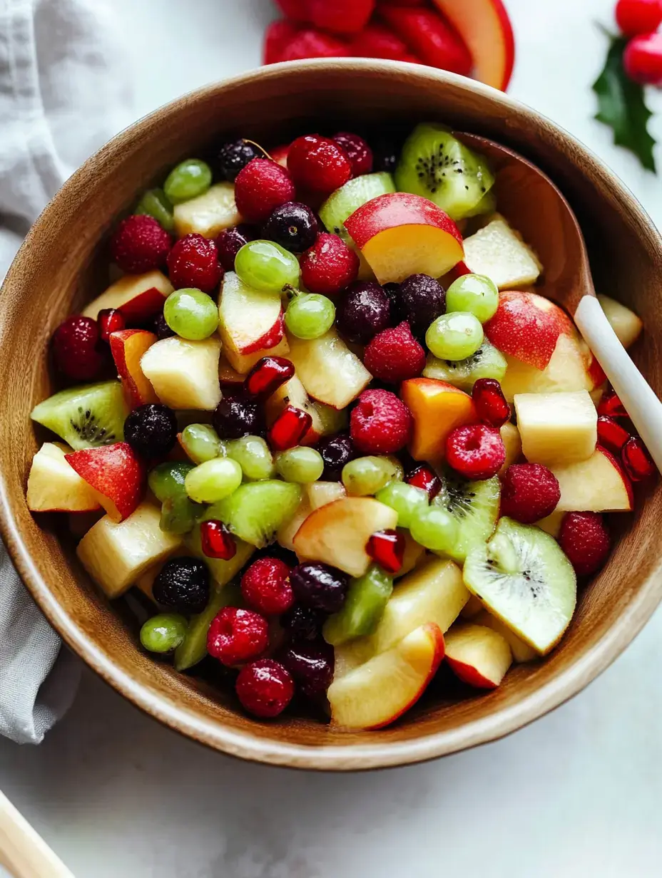
M 34 223 L 18 250 L 18 254 L 5 277 L 0 295 L 7 287 L 11 286 L 13 277 L 21 272 L 23 264 L 31 259 L 31 247 L 37 245 L 42 229 L 47 226 L 48 217 L 58 212 L 60 202 L 71 197 L 76 191 L 83 191 L 86 181 L 94 176 L 95 169 L 99 165 L 106 162 L 109 157 L 121 153 L 129 142 L 134 140 L 143 130 L 148 129 L 156 120 L 163 116 L 176 114 L 181 107 L 189 102 L 204 99 L 220 90 L 248 83 L 266 82 L 273 78 L 299 76 L 310 68 L 324 68 L 329 73 L 349 71 L 357 76 L 364 72 L 374 72 L 384 77 L 413 77 L 418 80 L 421 87 L 425 87 L 426 83 L 434 83 L 435 85 L 450 83 L 455 89 L 465 90 L 468 94 L 480 94 L 492 103 L 498 104 L 506 114 L 515 114 L 520 120 L 529 123 L 534 130 L 543 123 L 555 133 L 558 140 L 571 145 L 585 168 L 592 168 L 598 176 L 607 177 L 612 191 L 626 205 L 629 213 L 634 215 L 642 232 L 644 233 L 645 230 L 651 238 L 659 240 L 658 231 L 644 212 L 642 205 L 604 162 L 593 155 L 564 128 L 513 97 L 508 97 L 490 86 L 462 76 L 399 61 L 373 61 L 369 59 L 292 61 L 251 70 L 243 75 L 189 92 L 169 104 L 164 104 L 155 112 L 139 119 L 112 140 L 109 140 L 69 177 L 41 213 L 40 218 Z M 660 252 L 662 253 L 662 246 L 660 246 Z M 2 330 L 3 327 L 0 323 L 0 349 L 2 349 L 4 336 Z M 25 502 L 25 499 L 11 497 L 4 472 L 0 472 L 0 534 L 2 534 L 11 559 L 34 601 L 69 648 L 75 651 L 81 659 L 84 659 L 86 664 L 91 666 L 117 692 L 123 694 L 136 707 L 164 725 L 188 738 L 193 738 L 229 755 L 275 766 L 332 771 L 404 766 L 503 738 L 557 708 L 573 695 L 578 694 L 598 674 L 602 673 L 637 636 L 662 598 L 662 576 L 659 575 L 662 570 L 662 553 L 660 553 L 655 569 L 638 590 L 636 596 L 629 602 L 627 612 L 607 631 L 592 651 L 579 656 L 569 668 L 558 673 L 556 677 L 536 689 L 534 693 L 529 694 L 523 701 L 510 707 L 498 709 L 490 716 L 476 719 L 459 729 L 438 731 L 396 743 L 298 745 L 265 740 L 260 738 L 259 734 L 250 731 L 238 732 L 224 728 L 222 720 L 213 722 L 204 719 L 191 710 L 166 701 L 149 687 L 137 684 L 130 674 L 124 672 L 115 662 L 107 659 L 84 630 L 75 621 L 70 620 L 66 611 L 55 601 L 53 595 L 50 594 L 47 581 L 34 565 L 33 558 L 18 532 L 13 515 L 13 508 L 21 501 Z

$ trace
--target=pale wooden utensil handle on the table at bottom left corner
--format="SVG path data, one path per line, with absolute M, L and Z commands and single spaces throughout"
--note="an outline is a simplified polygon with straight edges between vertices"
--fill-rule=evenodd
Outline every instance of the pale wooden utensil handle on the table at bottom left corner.
M 14 878 L 74 878 L 40 835 L 0 793 L 0 865 Z

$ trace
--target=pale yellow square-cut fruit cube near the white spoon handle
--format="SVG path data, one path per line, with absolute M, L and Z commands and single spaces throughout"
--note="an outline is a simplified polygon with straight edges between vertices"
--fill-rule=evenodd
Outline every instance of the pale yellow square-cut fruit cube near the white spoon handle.
M 529 463 L 571 464 L 591 457 L 598 441 L 598 413 L 586 390 L 517 393 L 514 403 Z

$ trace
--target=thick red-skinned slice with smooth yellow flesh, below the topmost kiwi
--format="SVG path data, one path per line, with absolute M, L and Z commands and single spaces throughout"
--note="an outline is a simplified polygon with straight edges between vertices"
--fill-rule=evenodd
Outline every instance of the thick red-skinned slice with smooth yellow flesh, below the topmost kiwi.
M 389 192 L 346 219 L 345 227 L 380 284 L 412 274 L 441 277 L 460 262 L 462 234 L 427 198 Z

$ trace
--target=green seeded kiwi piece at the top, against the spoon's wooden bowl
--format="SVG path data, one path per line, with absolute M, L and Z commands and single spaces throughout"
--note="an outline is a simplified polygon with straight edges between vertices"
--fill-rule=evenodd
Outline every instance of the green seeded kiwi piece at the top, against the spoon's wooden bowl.
M 396 168 L 400 192 L 429 198 L 451 219 L 476 213 L 494 185 L 494 175 L 482 155 L 457 140 L 445 126 L 423 123 L 404 141 Z M 488 208 L 485 202 L 481 210 Z

